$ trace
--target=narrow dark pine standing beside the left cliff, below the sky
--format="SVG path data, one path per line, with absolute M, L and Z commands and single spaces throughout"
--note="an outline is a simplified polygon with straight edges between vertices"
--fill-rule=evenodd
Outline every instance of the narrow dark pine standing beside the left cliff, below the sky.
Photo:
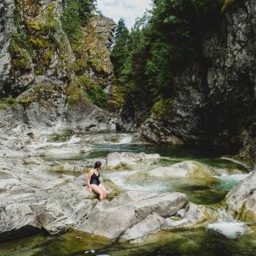
M 124 69 L 124 62 L 126 61 L 129 53 L 128 43 L 129 29 L 127 29 L 127 26 L 125 25 L 124 18 L 121 18 L 118 21 L 114 37 L 114 46 L 110 56 L 116 78 L 120 78 L 121 70 Z

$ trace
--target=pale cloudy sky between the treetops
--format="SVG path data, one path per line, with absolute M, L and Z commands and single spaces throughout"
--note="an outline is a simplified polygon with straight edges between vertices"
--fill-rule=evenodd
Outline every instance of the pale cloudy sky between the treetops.
M 149 9 L 151 0 L 98 0 L 97 2 L 103 15 L 113 18 L 116 23 L 120 18 L 124 18 L 130 29 L 135 24 L 135 19 Z

